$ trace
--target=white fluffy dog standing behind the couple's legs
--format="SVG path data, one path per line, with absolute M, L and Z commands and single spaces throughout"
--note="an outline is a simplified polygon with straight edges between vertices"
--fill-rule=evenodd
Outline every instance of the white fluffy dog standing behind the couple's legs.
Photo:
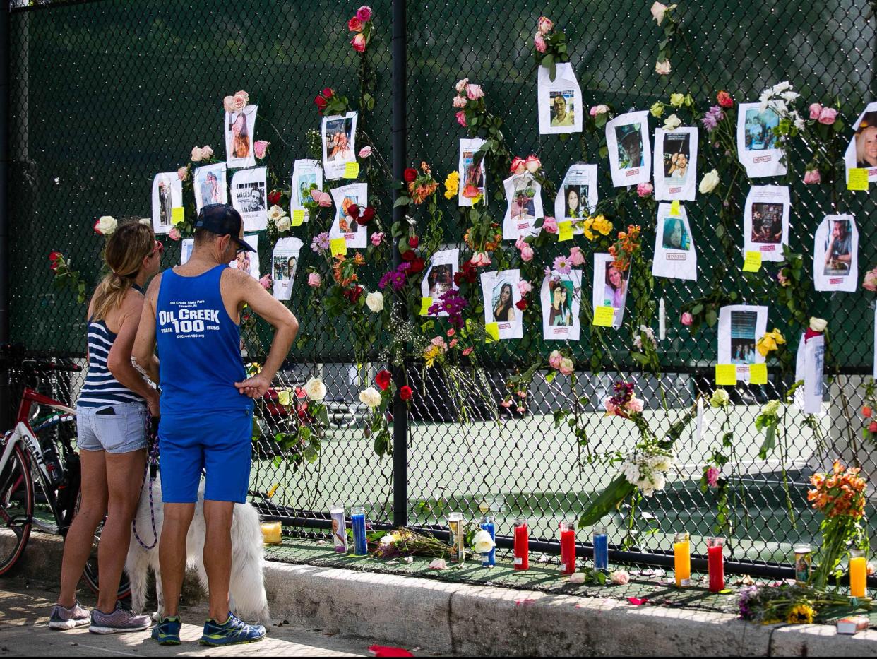
M 195 568 L 198 581 L 204 591 L 207 590 L 207 572 L 204 569 L 203 551 L 206 526 L 204 525 L 204 484 L 198 489 L 198 502 L 195 505 L 195 517 L 189 526 L 186 537 L 186 568 Z M 153 536 L 149 505 L 149 479 L 146 478 L 140 492 L 140 503 L 137 509 L 136 529 L 146 545 L 153 544 L 155 537 L 161 535 L 161 524 L 164 520 L 164 507 L 161 501 L 161 482 L 156 478 L 153 482 L 153 512 L 155 516 L 155 533 Z M 262 531 L 259 513 L 251 504 L 235 504 L 232 517 L 232 580 L 229 584 L 229 599 L 232 611 L 241 619 L 258 621 L 267 625 L 271 621 L 268 611 L 265 583 L 262 569 L 265 563 L 265 548 L 262 542 Z M 161 592 L 161 570 L 159 567 L 159 546 L 151 549 L 143 548 L 136 536 L 131 534 L 131 546 L 125 569 L 131 580 L 132 608 L 134 612 L 143 612 L 146 605 L 146 576 L 149 568 L 155 573 L 155 594 L 158 598 L 158 612 L 164 612 L 164 598 Z

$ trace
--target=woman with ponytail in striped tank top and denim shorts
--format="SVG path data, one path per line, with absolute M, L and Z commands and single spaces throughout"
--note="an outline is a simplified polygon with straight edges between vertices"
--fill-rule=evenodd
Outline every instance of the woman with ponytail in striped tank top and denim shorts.
M 90 625 L 97 634 L 140 631 L 148 616 L 118 605 L 116 594 L 146 468 L 146 410 L 158 417 L 159 395 L 134 368 L 146 280 L 160 269 L 161 243 L 150 226 L 119 226 L 103 251 L 110 273 L 98 284 L 88 312 L 89 372 L 76 402 L 82 462 L 82 502 L 64 542 L 61 592 L 49 627 Z M 100 594 L 93 612 L 76 601 L 76 585 L 106 516 L 98 547 Z

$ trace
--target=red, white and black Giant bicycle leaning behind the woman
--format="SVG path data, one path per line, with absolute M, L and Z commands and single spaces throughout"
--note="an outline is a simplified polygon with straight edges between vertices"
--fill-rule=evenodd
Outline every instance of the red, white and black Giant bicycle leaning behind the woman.
M 81 370 L 75 364 L 37 360 L 22 362 L 22 368 L 28 376 L 45 371 Z M 30 382 L 25 383 L 15 427 L 4 433 L 0 443 L 0 529 L 5 525 L 14 535 L 14 538 L 0 535 L 0 576 L 18 562 L 32 527 L 47 534 L 66 536 L 79 508 L 81 471 L 79 455 L 71 439 L 74 433 L 59 432 L 57 439 L 52 436 L 56 426 L 68 423 L 75 423 L 75 410 L 40 394 L 32 389 Z M 44 516 L 48 520 L 37 514 L 38 503 L 47 506 L 48 514 Z M 95 532 L 95 547 L 102 526 Z M 89 588 L 97 592 L 96 552 L 92 552 L 82 576 Z M 126 598 L 130 593 L 131 586 L 123 573 L 118 598 Z

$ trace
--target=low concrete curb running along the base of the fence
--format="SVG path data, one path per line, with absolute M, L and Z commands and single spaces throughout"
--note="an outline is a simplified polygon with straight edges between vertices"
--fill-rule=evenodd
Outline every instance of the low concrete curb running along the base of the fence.
M 2 540 L 2 539 L 0 539 Z M 60 538 L 33 534 L 19 577 L 57 581 Z M 728 613 L 634 607 L 418 577 L 269 562 L 275 620 L 460 655 L 877 656 L 877 631 L 758 626 Z

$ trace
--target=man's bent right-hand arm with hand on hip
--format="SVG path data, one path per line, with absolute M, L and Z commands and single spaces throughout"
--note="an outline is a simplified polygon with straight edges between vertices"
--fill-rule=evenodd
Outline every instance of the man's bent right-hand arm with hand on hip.
M 253 312 L 275 328 L 271 349 L 260 372 L 243 382 L 234 383 L 240 393 L 250 398 L 261 398 L 271 386 L 271 381 L 274 380 L 277 369 L 280 369 L 286 355 L 289 355 L 289 347 L 292 346 L 292 341 L 296 339 L 298 333 L 298 320 L 284 304 L 263 289 L 254 277 L 239 273 L 237 270 L 227 272 L 237 280 L 234 283 L 235 288 L 239 290 L 239 301 L 249 304 Z

